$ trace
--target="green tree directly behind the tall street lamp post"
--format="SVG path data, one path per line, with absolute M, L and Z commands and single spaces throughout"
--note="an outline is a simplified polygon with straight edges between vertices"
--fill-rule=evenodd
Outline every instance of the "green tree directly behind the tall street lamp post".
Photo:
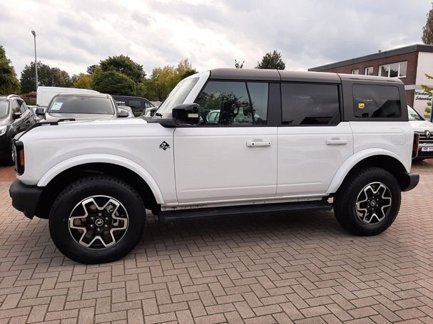
M 34 62 L 26 65 L 21 72 L 21 90 L 23 93 L 36 91 Z M 38 83 L 49 87 L 70 87 L 71 78 L 68 73 L 60 68 L 50 68 L 46 64 L 38 62 Z

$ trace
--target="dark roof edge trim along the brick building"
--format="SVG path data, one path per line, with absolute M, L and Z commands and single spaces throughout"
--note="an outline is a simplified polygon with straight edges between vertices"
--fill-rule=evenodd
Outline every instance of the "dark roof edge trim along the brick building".
M 330 68 L 340 68 L 341 66 L 350 66 L 352 64 L 377 60 L 379 58 L 389 58 L 391 56 L 397 56 L 397 55 L 402 55 L 402 54 L 407 54 L 407 53 L 412 53 L 412 52 L 429 52 L 429 53 L 432 53 L 433 52 L 433 45 L 415 44 L 415 45 L 395 48 L 395 49 L 389 50 L 389 51 L 383 51 L 380 53 L 374 53 L 374 54 L 370 54 L 370 55 L 366 55 L 366 56 L 360 56 L 359 58 L 351 58 L 350 60 L 325 64 L 325 66 L 317 66 L 315 68 L 309 68 L 308 70 L 309 71 L 322 71 L 322 70 L 327 70 Z

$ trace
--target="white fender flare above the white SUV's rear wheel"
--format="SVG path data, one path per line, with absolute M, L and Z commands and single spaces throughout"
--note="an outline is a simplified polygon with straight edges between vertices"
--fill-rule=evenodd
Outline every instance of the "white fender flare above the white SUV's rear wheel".
M 374 157 L 375 155 L 387 155 L 389 157 L 394 157 L 395 160 L 400 161 L 401 157 L 396 155 L 395 153 L 384 150 L 382 148 L 371 148 L 367 150 L 362 150 L 360 152 L 356 152 L 354 155 L 352 155 L 349 159 L 347 159 L 339 169 L 337 169 L 337 172 L 335 172 L 334 177 L 332 178 L 332 182 L 330 183 L 330 186 L 327 188 L 326 193 L 327 194 L 334 194 L 337 192 L 338 188 L 342 184 L 343 180 L 347 176 L 347 174 L 350 172 L 350 170 L 355 167 L 355 165 L 362 160 L 367 159 L 368 157 Z M 409 172 L 410 170 L 407 169 L 407 167 L 402 164 L 404 169 Z

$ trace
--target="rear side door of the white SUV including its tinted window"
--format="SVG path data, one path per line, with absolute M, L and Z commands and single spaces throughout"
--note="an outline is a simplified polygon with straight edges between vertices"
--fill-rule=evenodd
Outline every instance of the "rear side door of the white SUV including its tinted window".
M 341 87 L 282 83 L 277 196 L 321 196 L 353 154 L 352 129 L 341 122 Z

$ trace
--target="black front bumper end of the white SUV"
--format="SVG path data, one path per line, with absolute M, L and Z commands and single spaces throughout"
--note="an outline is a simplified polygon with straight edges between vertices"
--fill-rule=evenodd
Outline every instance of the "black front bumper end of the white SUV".
M 16 180 L 11 184 L 11 187 L 9 187 L 9 196 L 12 198 L 12 206 L 22 211 L 29 219 L 32 219 L 43 191 L 44 188 L 26 186 L 26 184 Z

